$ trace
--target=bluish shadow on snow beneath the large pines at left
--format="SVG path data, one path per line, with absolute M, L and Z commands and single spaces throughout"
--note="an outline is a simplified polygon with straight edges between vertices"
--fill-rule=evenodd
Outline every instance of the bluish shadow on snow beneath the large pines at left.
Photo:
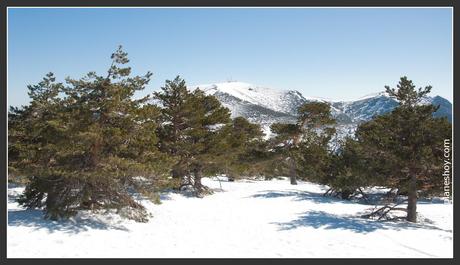
M 48 220 L 44 218 L 42 210 L 25 209 L 25 210 L 8 210 L 8 226 L 32 227 L 35 229 L 46 229 L 48 232 L 64 232 L 69 234 L 97 230 L 121 230 L 129 231 L 126 227 L 117 224 L 110 224 L 97 217 L 75 217 L 66 220 Z

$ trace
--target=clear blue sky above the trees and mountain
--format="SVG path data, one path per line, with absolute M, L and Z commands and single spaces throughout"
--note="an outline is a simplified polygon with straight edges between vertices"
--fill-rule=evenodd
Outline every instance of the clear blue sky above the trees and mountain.
M 119 44 L 134 74 L 153 72 L 145 93 L 181 75 L 352 100 L 407 75 L 452 101 L 447 8 L 10 8 L 9 105 L 47 72 L 105 73 Z

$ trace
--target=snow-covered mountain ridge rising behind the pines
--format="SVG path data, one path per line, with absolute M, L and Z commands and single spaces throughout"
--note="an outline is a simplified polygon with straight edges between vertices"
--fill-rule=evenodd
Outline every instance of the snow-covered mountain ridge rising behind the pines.
M 385 92 L 367 95 L 354 101 L 332 101 L 322 98 L 304 97 L 296 90 L 276 90 L 244 82 L 224 82 L 191 86 L 208 95 L 216 96 L 232 112 L 232 117 L 243 116 L 262 126 L 267 137 L 269 126 L 274 122 L 293 122 L 297 108 L 305 102 L 329 102 L 332 114 L 337 119 L 340 135 L 352 134 L 356 126 L 394 109 L 398 103 Z M 435 116 L 446 116 L 452 121 L 452 104 L 440 97 L 428 97 L 426 103 L 440 105 Z

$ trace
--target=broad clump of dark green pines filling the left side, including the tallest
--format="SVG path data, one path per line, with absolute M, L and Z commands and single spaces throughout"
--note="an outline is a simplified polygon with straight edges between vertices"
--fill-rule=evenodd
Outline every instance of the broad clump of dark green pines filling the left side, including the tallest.
M 121 48 L 112 59 L 106 77 L 91 72 L 64 86 L 47 75 L 29 87 L 32 103 L 11 111 L 9 167 L 29 177 L 22 205 L 44 207 L 52 219 L 116 208 L 146 220 L 131 191 L 152 191 L 168 168 L 156 148 L 159 110 L 132 98 L 151 74 L 129 77 Z

